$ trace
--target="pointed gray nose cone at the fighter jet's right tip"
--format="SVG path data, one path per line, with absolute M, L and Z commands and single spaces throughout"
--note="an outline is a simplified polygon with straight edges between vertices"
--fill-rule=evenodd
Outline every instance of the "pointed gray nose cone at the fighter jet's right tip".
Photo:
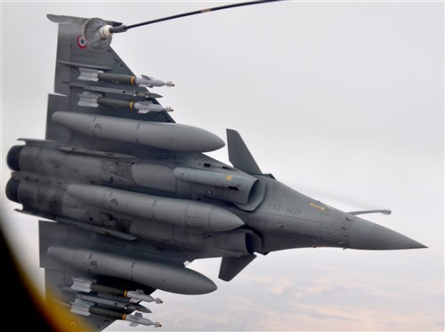
M 349 231 L 349 246 L 352 249 L 399 250 L 418 249 L 425 246 L 396 231 L 391 231 L 376 223 L 357 219 Z

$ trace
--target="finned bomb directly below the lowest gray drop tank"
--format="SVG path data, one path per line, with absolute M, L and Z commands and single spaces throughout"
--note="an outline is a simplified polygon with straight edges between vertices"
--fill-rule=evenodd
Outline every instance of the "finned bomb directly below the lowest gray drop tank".
M 84 278 L 72 278 L 73 284 L 71 285 L 71 289 L 90 293 L 105 293 L 112 296 L 123 296 L 130 299 L 130 302 L 144 301 L 144 302 L 155 302 L 156 304 L 162 304 L 162 300 L 160 298 L 154 298 L 147 294 L 144 294 L 142 289 L 136 290 L 122 290 L 116 287 L 109 287 L 106 285 L 96 284 L 96 280 L 93 279 L 84 279 Z

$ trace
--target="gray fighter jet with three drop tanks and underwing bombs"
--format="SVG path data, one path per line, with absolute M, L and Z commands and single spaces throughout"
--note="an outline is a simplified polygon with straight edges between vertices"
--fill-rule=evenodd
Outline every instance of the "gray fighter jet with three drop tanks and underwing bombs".
M 155 289 L 216 289 L 185 267 L 199 258 L 222 257 L 219 278 L 230 281 L 256 253 L 425 247 L 359 216 L 389 211 L 342 212 L 263 174 L 234 130 L 232 165 L 207 157 L 223 140 L 175 123 L 148 90 L 173 83 L 135 76 L 109 46 L 138 25 L 48 19 L 59 36 L 45 139 L 12 147 L 5 190 L 20 212 L 51 220 L 39 221 L 47 297 L 79 320 L 97 330 L 114 320 L 160 326 L 141 313 L 150 312 L 142 301 L 161 302 L 150 296 Z M 77 328 L 75 320 L 67 326 Z

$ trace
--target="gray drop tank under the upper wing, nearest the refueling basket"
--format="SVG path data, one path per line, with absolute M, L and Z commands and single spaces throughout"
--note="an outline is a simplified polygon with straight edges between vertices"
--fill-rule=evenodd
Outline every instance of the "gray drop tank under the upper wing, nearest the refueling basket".
M 95 138 L 129 142 L 181 152 L 207 152 L 223 148 L 221 138 L 194 126 L 151 122 L 96 114 L 56 111 L 53 123 Z

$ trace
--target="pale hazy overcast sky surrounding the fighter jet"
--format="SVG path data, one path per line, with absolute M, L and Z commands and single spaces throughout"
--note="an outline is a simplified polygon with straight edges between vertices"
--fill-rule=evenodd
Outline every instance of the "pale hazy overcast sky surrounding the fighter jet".
M 221 2 L 2 5 L 2 227 L 43 290 L 37 219 L 4 197 L 5 156 L 44 138 L 57 26 L 46 13 L 133 24 Z M 206 296 L 157 291 L 162 330 L 444 329 L 444 8 L 441 2 L 283 2 L 135 28 L 112 47 L 158 88 L 178 123 L 239 131 L 264 173 L 428 249 L 295 249 L 259 256 L 236 279 L 219 259 L 191 269 Z M 227 150 L 209 155 L 229 163 Z M 117 322 L 109 331 L 143 330 Z M 149 328 L 150 329 L 150 328 Z

